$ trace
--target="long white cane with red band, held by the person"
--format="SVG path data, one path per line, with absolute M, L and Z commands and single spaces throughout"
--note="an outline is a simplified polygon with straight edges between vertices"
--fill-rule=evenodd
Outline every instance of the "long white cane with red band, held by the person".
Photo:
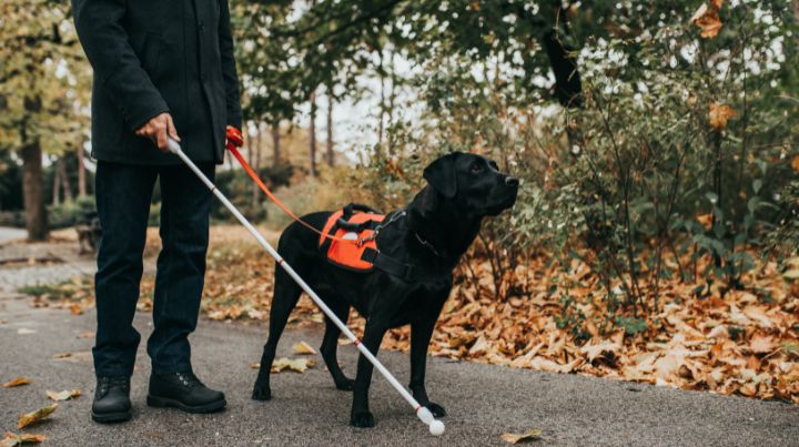
M 186 156 L 186 154 L 183 153 L 180 144 L 178 144 L 178 142 L 174 140 L 169 139 L 169 150 L 173 154 L 178 155 L 183 161 L 183 163 L 185 163 L 189 166 L 189 169 L 191 169 L 196 174 L 196 176 L 200 177 L 200 180 L 205 184 L 205 186 L 208 186 L 209 190 L 211 190 L 211 192 L 216 196 L 216 199 L 219 199 L 222 202 L 222 204 L 227 210 L 230 210 L 231 213 L 233 213 L 235 219 L 239 222 L 241 222 L 241 224 L 244 225 L 245 228 L 247 228 L 250 234 L 252 234 L 253 237 L 255 237 L 255 240 L 259 242 L 259 244 L 261 244 L 261 246 L 264 247 L 264 250 L 266 250 L 266 252 L 272 257 L 274 257 L 274 260 L 277 262 L 277 264 L 280 264 L 280 266 L 283 267 L 283 270 L 286 271 L 286 273 L 292 278 L 294 278 L 294 281 L 296 281 L 296 283 L 300 285 L 300 287 L 302 287 L 302 289 L 305 291 L 305 293 L 311 297 L 311 299 L 313 299 L 314 303 L 316 303 L 316 305 L 322 309 L 322 312 L 324 312 L 324 314 L 327 315 L 327 317 L 336 326 L 338 326 L 341 332 L 344 333 L 344 335 L 347 338 L 350 338 L 350 341 L 352 341 L 353 344 L 355 344 L 355 347 L 358 348 L 361 354 L 363 354 L 364 357 L 366 357 L 366 359 L 368 359 L 372 363 L 372 365 L 374 365 L 375 368 L 377 368 L 377 370 L 380 370 L 381 374 L 383 374 L 383 377 L 385 377 L 386 380 L 388 380 L 388 383 L 392 384 L 394 389 L 396 389 L 397 393 L 400 393 L 405 398 L 405 400 L 407 400 L 407 403 L 411 404 L 411 406 L 414 408 L 414 412 L 416 412 L 416 416 L 419 418 L 419 420 L 422 420 L 427 426 L 429 426 L 431 434 L 433 434 L 435 436 L 443 435 L 444 434 L 444 423 L 442 423 L 441 420 L 436 420 L 433 417 L 433 414 L 429 412 L 429 409 L 419 405 L 419 403 L 416 402 L 416 399 L 414 399 L 414 397 L 411 395 L 411 393 L 408 393 L 408 390 L 405 389 L 405 387 L 402 386 L 402 384 L 400 384 L 400 382 L 397 382 L 397 379 L 391 374 L 391 372 L 388 369 L 386 369 L 385 366 L 383 366 L 383 364 L 377 359 L 377 357 L 375 357 L 374 355 L 372 355 L 372 353 L 370 353 L 370 351 L 366 348 L 366 346 L 364 346 L 363 343 L 361 343 L 361 341 L 355 336 L 355 334 L 353 334 L 352 331 L 350 331 L 350 328 L 341 319 L 338 319 L 338 317 L 333 313 L 333 311 L 331 311 L 331 308 L 327 307 L 327 305 L 322 301 L 322 298 L 320 298 L 320 296 L 316 295 L 316 292 L 314 292 L 313 288 L 311 288 L 311 286 L 309 286 L 305 283 L 305 281 L 303 281 L 303 278 L 296 272 L 294 272 L 294 268 L 292 268 L 292 266 L 289 265 L 283 260 L 283 257 L 280 255 L 280 253 L 277 253 L 277 251 L 275 251 L 272 247 L 272 245 L 270 245 L 269 242 L 266 242 L 266 240 L 261 235 L 261 233 L 259 233 L 257 230 L 255 230 L 255 227 L 250 223 L 250 221 L 247 221 L 246 217 L 244 217 L 242 215 L 242 213 L 239 212 L 239 210 L 227 200 L 227 197 L 225 197 L 224 194 L 222 194 L 222 192 L 220 192 L 220 190 L 216 189 L 216 186 L 213 184 L 213 182 L 211 182 L 205 176 L 205 174 L 203 174 L 203 172 L 200 171 L 200 169 L 194 164 L 194 162 L 192 162 L 189 159 L 189 156 Z

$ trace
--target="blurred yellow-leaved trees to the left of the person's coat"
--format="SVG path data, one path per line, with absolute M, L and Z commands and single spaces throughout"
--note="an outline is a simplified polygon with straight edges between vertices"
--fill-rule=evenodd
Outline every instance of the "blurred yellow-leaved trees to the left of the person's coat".
M 48 196 L 59 204 L 87 193 L 90 72 L 65 2 L 4 1 L 0 42 L 0 211 L 23 204 L 29 238 L 39 241 Z

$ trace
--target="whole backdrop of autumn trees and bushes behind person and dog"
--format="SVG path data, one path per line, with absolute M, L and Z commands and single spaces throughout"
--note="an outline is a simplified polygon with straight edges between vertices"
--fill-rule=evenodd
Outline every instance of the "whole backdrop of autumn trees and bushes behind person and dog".
M 518 268 L 543 252 L 590 265 L 611 314 L 656 308 L 668 281 L 746 287 L 767 250 L 796 255 L 797 1 L 231 4 L 245 152 L 297 212 L 401 206 L 429 160 L 474 151 L 523 179 L 469 254 L 490 284 L 462 272 L 500 298 L 529 292 Z M 89 68 L 65 4 L 2 8 L 0 206 L 24 190 L 42 237 L 45 203 L 67 224 L 91 193 Z M 286 223 L 230 161 L 219 180 Z

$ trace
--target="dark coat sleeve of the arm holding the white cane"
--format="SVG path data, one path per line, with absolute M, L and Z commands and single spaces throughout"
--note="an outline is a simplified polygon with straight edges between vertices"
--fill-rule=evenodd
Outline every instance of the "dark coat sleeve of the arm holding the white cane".
M 75 30 L 95 82 L 135 131 L 169 106 L 130 45 L 122 27 L 125 8 L 124 0 L 72 0 Z

